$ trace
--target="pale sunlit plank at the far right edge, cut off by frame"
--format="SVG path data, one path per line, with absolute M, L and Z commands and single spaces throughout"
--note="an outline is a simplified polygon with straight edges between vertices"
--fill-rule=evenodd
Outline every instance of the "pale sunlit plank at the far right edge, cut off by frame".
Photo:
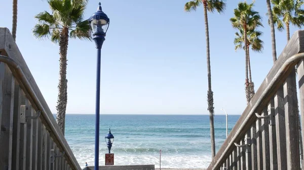
M 304 61 L 301 60 L 297 65 L 297 76 L 298 76 L 298 86 L 299 86 L 299 107 L 301 113 L 301 127 L 304 127 Z M 304 137 L 304 129 L 301 131 L 302 137 Z M 304 146 L 304 140 L 302 140 L 302 145 Z M 304 153 L 302 150 L 301 153 Z M 303 167 L 303 165 L 302 165 Z

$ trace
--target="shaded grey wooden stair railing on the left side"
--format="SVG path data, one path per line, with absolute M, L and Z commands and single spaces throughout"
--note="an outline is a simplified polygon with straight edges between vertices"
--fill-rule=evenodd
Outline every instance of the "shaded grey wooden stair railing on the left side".
M 0 169 L 81 169 L 7 28 L 0 52 Z

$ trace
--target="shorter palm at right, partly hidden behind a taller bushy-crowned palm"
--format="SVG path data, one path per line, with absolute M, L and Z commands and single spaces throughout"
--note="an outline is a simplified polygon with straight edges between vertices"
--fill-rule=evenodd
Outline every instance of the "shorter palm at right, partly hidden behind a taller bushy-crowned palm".
M 247 60 L 248 60 L 248 75 L 249 75 L 249 97 L 250 99 L 254 95 L 254 83 L 251 79 L 251 67 L 250 67 L 250 55 L 249 55 L 249 47 L 251 46 L 252 51 L 261 52 L 263 49 L 263 41 L 259 38 L 262 35 L 261 31 L 257 30 L 249 30 L 247 31 L 247 45 L 244 45 L 244 31 L 240 29 L 240 33 L 236 32 L 236 38 L 234 40 L 235 50 L 245 47 L 247 48 Z

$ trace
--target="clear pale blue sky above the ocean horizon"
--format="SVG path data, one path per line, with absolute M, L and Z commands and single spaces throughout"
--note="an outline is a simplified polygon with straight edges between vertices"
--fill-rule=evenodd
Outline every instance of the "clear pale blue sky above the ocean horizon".
M 89 1 L 85 17 L 97 10 Z M 186 13 L 187 0 L 101 1 L 110 26 L 101 52 L 101 114 L 208 114 L 203 9 Z M 246 107 L 244 51 L 234 50 L 229 19 L 240 1 L 230 0 L 224 14 L 209 14 L 212 90 L 215 114 L 242 114 Z M 247 1 L 251 3 L 251 1 Z M 49 11 L 47 1 L 18 1 L 17 45 L 49 107 L 56 113 L 59 47 L 36 40 L 34 15 Z M 273 65 L 267 6 L 263 17 L 263 53 L 251 57 L 255 90 Z M 1 27 L 12 28 L 12 1 L 2 2 Z M 291 27 L 291 34 L 297 28 Z M 277 53 L 286 45 L 276 30 Z M 96 49 L 94 42 L 70 39 L 67 114 L 94 114 Z

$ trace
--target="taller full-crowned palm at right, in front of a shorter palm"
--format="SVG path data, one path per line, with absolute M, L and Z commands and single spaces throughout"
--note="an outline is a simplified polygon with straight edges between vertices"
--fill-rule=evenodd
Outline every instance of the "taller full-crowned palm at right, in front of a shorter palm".
M 262 26 L 261 17 L 258 12 L 254 11 L 254 1 L 251 4 L 239 3 L 238 8 L 234 10 L 234 17 L 230 19 L 232 26 L 244 31 L 244 44 L 247 44 L 247 31 L 254 30 L 258 26 Z M 251 100 L 253 94 L 251 84 L 248 79 L 248 50 L 245 48 L 245 92 L 247 104 Z

